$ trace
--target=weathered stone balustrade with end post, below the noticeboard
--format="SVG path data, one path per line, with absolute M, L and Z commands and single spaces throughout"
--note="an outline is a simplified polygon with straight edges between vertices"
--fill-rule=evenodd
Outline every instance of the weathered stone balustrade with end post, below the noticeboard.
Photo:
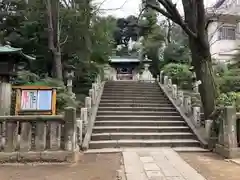
M 76 161 L 76 109 L 64 115 L 0 116 L 0 162 Z M 20 129 L 19 129 L 20 127 Z

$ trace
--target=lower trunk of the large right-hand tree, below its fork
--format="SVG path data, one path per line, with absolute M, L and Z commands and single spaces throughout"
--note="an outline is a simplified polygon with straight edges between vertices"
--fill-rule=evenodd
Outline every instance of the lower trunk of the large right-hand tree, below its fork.
M 216 107 L 217 97 L 217 86 L 213 74 L 210 50 L 207 46 L 202 45 L 199 40 L 192 38 L 190 38 L 190 49 L 197 80 L 201 80 L 199 90 L 204 116 L 205 119 L 208 119 Z

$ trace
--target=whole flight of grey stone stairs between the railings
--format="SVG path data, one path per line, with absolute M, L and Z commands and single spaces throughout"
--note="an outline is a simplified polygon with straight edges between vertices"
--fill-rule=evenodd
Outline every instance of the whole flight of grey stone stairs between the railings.
M 134 81 L 105 84 L 90 149 L 200 145 L 157 84 Z

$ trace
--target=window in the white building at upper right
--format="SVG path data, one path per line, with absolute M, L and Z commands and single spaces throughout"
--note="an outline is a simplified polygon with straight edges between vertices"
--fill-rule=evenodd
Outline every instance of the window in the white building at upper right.
M 235 26 L 222 26 L 218 32 L 219 40 L 235 40 L 236 39 L 236 27 Z

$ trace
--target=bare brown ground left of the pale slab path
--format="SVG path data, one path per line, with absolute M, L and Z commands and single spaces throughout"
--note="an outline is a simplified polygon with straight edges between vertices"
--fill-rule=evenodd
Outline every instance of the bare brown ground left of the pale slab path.
M 118 180 L 121 154 L 86 154 L 76 164 L 0 165 L 0 180 Z

